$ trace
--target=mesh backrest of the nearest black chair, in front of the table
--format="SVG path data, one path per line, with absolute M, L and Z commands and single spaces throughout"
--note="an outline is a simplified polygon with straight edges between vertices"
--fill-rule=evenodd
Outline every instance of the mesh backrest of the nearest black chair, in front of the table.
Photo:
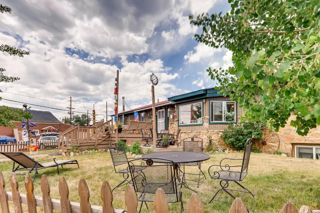
M 173 161 L 161 159 L 168 163 L 156 164 L 154 163 L 156 159 L 161 158 L 142 158 L 146 164 L 140 164 L 140 159 L 128 162 L 135 191 L 156 194 L 156 190 L 162 188 L 165 194 L 177 195 Z

